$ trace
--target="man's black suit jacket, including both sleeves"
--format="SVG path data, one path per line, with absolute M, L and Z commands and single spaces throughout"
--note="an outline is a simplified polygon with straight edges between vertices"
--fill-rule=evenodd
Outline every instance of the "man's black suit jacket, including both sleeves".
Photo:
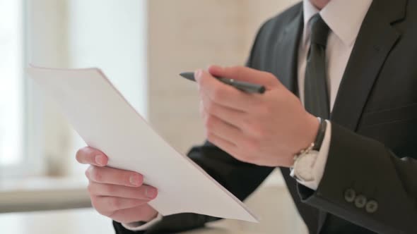
M 297 94 L 302 29 L 302 4 L 268 20 L 247 66 L 274 73 Z M 330 121 L 329 156 L 316 191 L 281 168 L 310 233 L 417 233 L 417 1 L 372 2 Z M 209 142 L 194 147 L 189 157 L 240 199 L 273 170 L 237 161 Z M 377 210 L 370 213 L 348 202 L 359 195 L 377 202 Z M 213 220 L 199 214 L 165 216 L 144 233 L 174 233 Z M 119 223 L 114 227 L 131 233 Z

